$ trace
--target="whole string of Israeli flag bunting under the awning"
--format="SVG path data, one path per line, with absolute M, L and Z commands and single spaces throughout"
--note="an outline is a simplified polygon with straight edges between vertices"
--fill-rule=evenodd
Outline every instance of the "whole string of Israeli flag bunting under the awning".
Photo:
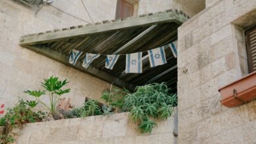
M 165 48 L 166 46 L 171 49 L 173 56 L 177 58 L 177 41 L 169 43 L 168 45 L 161 46 L 158 48 L 154 48 L 151 50 L 145 50 L 142 52 L 148 52 L 148 58 L 150 60 L 150 67 L 156 67 L 158 65 L 163 65 L 167 63 L 165 58 Z M 125 73 L 142 73 L 142 52 L 134 52 L 131 54 L 92 54 L 89 52 L 85 52 L 85 58 L 83 59 L 82 66 L 87 69 L 91 63 L 96 60 L 99 56 L 106 56 L 106 69 L 113 69 L 116 64 L 119 56 L 126 56 L 126 65 L 125 65 Z M 69 63 L 75 65 L 79 56 L 81 56 L 83 52 L 79 50 L 72 49 L 70 52 Z

